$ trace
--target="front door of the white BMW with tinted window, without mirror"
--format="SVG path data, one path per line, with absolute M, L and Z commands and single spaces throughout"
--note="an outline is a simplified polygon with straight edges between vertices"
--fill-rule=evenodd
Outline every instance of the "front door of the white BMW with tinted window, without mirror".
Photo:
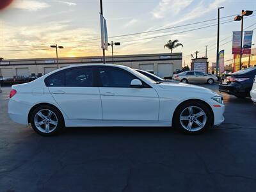
M 138 77 L 118 67 L 99 67 L 102 120 L 157 121 L 159 97 L 154 88 L 143 83 L 131 88 Z

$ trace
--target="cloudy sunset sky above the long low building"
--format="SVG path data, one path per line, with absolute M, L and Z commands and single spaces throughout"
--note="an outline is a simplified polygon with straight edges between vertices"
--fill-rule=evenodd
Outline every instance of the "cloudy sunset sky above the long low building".
M 238 14 L 241 9 L 255 10 L 252 17 L 244 19 L 244 28 L 256 28 L 256 1 L 253 0 L 103 0 L 103 5 L 109 41 L 121 42 L 121 46 L 115 47 L 115 54 L 170 52 L 163 48 L 164 44 L 177 38 L 184 48 L 174 52 L 183 52 L 186 63 L 195 51 L 199 51 L 198 56 L 204 56 L 205 45 L 209 45 L 209 62 L 214 62 L 217 27 L 188 30 L 214 25 L 217 20 L 172 27 L 216 19 L 218 6 L 225 7 L 221 17 Z M 51 44 L 65 47 L 60 50 L 60 57 L 100 56 L 99 11 L 99 0 L 14 0 L 0 12 L 0 57 L 55 57 L 54 50 L 49 49 Z M 220 26 L 220 50 L 225 49 L 225 60 L 232 58 L 232 31 L 240 29 L 240 22 L 232 21 L 233 17 L 221 19 L 221 22 L 227 22 Z M 164 28 L 170 29 L 111 38 Z M 182 31 L 188 32 L 180 33 Z M 253 44 L 256 45 L 255 33 L 256 30 L 253 34 Z M 106 54 L 111 54 L 110 48 Z

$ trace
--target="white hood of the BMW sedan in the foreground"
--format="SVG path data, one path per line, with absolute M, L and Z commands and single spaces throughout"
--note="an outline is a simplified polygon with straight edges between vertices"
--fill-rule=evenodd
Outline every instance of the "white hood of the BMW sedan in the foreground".
M 173 90 L 177 92 L 198 92 L 198 93 L 209 93 L 211 95 L 218 95 L 218 93 L 204 88 L 202 86 L 197 86 L 194 84 L 187 84 L 187 83 L 161 83 L 159 87 L 166 89 L 166 90 Z

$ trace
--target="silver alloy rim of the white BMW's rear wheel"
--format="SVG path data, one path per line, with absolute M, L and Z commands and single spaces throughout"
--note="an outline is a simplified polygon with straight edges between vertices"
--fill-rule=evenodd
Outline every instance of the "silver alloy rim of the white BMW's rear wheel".
M 41 109 L 36 113 L 34 123 L 38 131 L 50 133 L 56 129 L 58 118 L 50 109 Z

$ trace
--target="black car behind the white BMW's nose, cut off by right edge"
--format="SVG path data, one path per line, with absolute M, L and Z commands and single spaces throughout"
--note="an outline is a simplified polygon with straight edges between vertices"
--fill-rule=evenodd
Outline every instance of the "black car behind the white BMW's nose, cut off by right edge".
M 250 97 L 256 67 L 246 68 L 223 77 L 220 82 L 220 92 L 235 95 L 239 98 Z

